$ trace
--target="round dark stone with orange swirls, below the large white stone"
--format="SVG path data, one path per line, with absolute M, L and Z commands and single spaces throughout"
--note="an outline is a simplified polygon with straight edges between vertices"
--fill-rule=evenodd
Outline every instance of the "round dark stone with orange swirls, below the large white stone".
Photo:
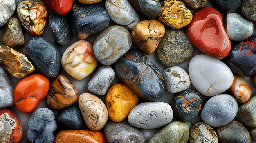
M 180 121 L 188 122 L 198 116 L 204 103 L 204 97 L 198 91 L 187 89 L 174 97 L 171 106 Z

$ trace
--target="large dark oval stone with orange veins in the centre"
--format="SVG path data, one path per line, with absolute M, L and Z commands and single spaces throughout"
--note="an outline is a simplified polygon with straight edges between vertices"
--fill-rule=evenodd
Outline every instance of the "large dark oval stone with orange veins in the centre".
M 162 73 L 139 50 L 131 49 L 115 64 L 116 76 L 139 97 L 156 101 L 163 96 Z

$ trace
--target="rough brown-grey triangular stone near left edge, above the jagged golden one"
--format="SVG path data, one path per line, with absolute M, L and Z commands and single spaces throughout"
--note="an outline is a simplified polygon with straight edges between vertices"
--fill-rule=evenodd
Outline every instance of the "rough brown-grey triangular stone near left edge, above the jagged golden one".
M 24 35 L 17 18 L 10 18 L 4 27 L 2 33 L 2 42 L 9 47 L 19 47 L 24 45 Z

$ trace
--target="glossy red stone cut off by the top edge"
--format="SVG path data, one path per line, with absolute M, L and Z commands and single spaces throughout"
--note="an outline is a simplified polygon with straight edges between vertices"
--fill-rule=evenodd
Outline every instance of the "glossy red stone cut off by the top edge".
M 66 15 L 72 8 L 74 0 L 41 0 L 58 15 Z

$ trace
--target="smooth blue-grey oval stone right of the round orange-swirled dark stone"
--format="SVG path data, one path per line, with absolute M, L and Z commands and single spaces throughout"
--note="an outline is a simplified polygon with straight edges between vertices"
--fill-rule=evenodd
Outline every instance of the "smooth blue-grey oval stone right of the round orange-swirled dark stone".
M 213 127 L 220 127 L 231 122 L 238 111 L 236 99 L 231 95 L 220 94 L 211 97 L 201 112 L 202 120 Z

